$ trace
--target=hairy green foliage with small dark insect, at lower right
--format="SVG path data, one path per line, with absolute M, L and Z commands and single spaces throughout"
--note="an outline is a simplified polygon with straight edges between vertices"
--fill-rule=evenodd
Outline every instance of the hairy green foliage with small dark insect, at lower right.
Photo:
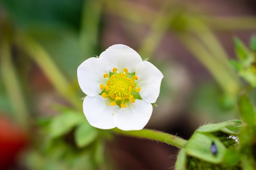
M 180 150 L 176 170 L 241 169 L 238 143 L 230 135 L 238 135 L 243 122 L 232 120 L 200 126 Z

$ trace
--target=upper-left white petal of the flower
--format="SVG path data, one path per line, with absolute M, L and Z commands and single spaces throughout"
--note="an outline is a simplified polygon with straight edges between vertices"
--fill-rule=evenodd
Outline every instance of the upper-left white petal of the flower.
M 96 57 L 85 60 L 77 68 L 78 83 L 82 91 L 88 96 L 96 96 L 101 93 L 99 85 L 106 84 L 105 73 L 109 73 L 110 67 L 106 59 Z

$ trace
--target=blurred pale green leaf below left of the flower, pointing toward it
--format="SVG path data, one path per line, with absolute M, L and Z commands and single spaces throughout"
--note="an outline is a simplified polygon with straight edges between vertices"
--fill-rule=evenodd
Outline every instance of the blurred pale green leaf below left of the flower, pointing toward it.
M 82 121 L 85 121 L 82 113 L 68 111 L 52 119 L 49 126 L 49 134 L 52 137 L 60 137 L 71 131 L 74 126 L 80 124 Z

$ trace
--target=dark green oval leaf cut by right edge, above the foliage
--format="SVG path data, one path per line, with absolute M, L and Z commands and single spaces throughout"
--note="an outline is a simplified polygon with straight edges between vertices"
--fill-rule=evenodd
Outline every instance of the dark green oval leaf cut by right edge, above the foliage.
M 249 98 L 242 94 L 238 98 L 238 109 L 243 121 L 248 125 L 256 125 L 256 113 Z

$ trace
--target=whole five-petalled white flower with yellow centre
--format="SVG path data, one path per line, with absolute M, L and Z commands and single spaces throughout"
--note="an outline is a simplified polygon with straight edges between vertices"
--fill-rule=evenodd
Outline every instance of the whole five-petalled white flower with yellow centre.
M 116 44 L 77 69 L 83 112 L 99 129 L 141 130 L 159 96 L 163 74 L 132 48 Z

